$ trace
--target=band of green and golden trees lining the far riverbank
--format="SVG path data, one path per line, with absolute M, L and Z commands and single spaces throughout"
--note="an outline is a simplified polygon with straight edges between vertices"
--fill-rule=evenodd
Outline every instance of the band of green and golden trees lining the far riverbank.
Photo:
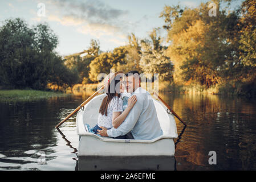
M 216 16 L 209 16 L 211 2 Z M 160 28 L 145 39 L 131 33 L 126 45 L 106 52 L 99 40 L 91 40 L 83 57 L 54 52 L 58 38 L 47 24 L 29 28 L 21 19 L 6 20 L 0 28 L 0 86 L 90 88 L 100 73 L 137 69 L 159 73 L 160 91 L 256 96 L 256 0 L 234 10 L 225 6 L 232 0 L 211 2 L 195 8 L 166 5 L 159 17 L 166 37 Z

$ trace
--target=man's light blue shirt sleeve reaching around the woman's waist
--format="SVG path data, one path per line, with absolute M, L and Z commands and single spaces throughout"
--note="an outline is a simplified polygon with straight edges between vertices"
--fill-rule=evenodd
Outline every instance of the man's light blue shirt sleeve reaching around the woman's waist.
M 143 98 L 137 97 L 137 102 L 133 106 L 129 114 L 127 115 L 127 118 L 125 118 L 124 122 L 121 123 L 121 125 L 117 129 L 112 127 L 112 129 L 107 130 L 108 136 L 118 137 L 118 136 L 122 136 L 129 133 L 129 131 L 131 131 L 133 127 L 136 125 L 142 110 L 143 110 Z

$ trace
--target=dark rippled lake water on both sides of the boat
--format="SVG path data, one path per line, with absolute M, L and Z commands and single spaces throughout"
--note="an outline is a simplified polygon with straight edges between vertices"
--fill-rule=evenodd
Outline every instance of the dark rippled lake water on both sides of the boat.
M 176 119 L 181 135 L 175 139 L 175 162 L 165 160 L 166 165 L 172 163 L 177 170 L 256 170 L 255 100 L 196 94 L 160 96 L 188 125 L 184 129 Z M 87 97 L 0 102 L 0 170 L 77 170 L 78 160 L 87 163 L 76 155 L 75 115 L 59 131 L 55 129 Z M 208 162 L 210 151 L 216 152 L 216 165 Z M 44 155 L 46 164 L 40 165 L 38 158 Z

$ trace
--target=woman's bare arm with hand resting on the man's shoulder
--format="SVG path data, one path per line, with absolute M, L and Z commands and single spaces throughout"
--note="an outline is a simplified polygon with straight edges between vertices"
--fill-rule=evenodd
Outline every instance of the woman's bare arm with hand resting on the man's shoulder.
M 135 105 L 137 101 L 136 96 L 132 96 L 128 99 L 128 106 L 127 108 L 121 112 L 113 112 L 113 117 L 112 117 L 112 125 L 115 129 L 123 123 L 124 119 L 127 117 L 129 112 L 131 111 L 132 107 Z

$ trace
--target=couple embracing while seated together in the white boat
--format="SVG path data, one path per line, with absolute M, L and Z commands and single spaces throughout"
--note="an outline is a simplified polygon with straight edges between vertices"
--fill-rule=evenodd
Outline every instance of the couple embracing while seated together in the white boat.
M 92 132 L 102 137 L 145 140 L 163 134 L 151 95 L 141 88 L 139 72 L 125 76 L 116 72 L 105 79 L 105 92 Z

